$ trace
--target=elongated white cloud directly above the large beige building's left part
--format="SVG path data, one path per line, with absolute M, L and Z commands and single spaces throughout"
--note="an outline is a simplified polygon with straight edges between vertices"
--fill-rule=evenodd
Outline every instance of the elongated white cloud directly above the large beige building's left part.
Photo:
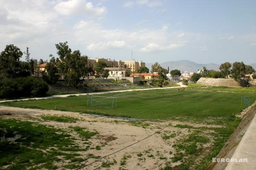
M 111 48 L 129 48 L 124 41 L 109 41 L 109 42 L 98 42 L 89 44 L 86 49 L 90 51 L 106 50 Z

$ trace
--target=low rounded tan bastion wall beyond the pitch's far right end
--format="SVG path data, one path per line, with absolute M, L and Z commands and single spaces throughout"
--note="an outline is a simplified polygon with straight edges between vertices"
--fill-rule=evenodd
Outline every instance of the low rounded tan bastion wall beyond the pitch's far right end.
M 214 79 L 201 77 L 197 84 L 210 85 L 210 86 L 228 86 L 228 87 L 245 87 L 246 82 L 244 80 L 235 79 Z

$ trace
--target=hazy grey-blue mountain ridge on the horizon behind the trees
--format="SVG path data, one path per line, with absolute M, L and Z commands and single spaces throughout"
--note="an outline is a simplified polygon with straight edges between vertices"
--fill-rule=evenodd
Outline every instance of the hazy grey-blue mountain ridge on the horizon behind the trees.
M 151 70 L 151 65 L 153 63 L 146 63 L 146 67 L 149 68 L 149 70 Z M 192 62 L 189 60 L 180 60 L 180 61 L 169 61 L 169 62 L 163 62 L 160 63 L 160 65 L 163 68 L 168 68 L 169 66 L 169 70 L 174 70 L 174 69 L 178 69 L 181 72 L 182 71 L 191 71 L 191 72 L 195 72 L 198 71 L 198 69 L 202 69 L 203 67 L 206 67 L 208 70 L 217 70 L 220 67 L 220 65 L 218 64 L 214 64 L 214 63 L 209 63 L 209 64 L 198 64 L 196 62 Z

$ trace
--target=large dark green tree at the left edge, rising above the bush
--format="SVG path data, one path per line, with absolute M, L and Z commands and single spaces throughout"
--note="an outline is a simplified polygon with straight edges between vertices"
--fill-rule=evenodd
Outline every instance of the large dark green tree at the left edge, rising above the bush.
M 13 44 L 6 45 L 0 54 L 0 73 L 3 77 L 26 77 L 30 75 L 29 64 L 21 62 L 23 53 Z

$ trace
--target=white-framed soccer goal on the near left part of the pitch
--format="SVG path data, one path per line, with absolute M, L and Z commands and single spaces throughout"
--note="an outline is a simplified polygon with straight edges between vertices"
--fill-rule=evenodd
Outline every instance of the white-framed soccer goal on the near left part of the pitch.
M 106 96 L 90 96 L 90 98 L 87 99 L 87 106 L 114 108 L 117 106 L 117 98 Z

